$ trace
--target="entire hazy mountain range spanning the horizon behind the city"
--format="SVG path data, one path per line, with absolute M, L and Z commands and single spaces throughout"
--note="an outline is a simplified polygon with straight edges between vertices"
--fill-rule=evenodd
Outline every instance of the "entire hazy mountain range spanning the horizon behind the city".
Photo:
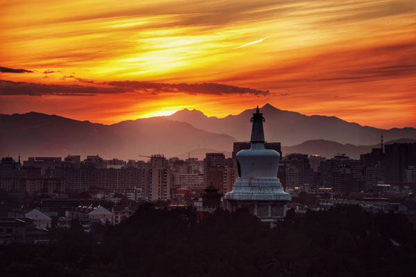
M 171 116 L 125 120 L 112 125 L 36 112 L 0 114 L 0 155 L 17 157 L 21 153 L 26 158 L 99 154 L 105 159 L 125 160 L 143 159 L 139 155 L 151 154 L 184 158 L 189 152 L 198 158 L 204 157 L 205 152 L 225 152 L 228 156 L 234 141 L 250 139 L 254 110 L 216 118 L 183 109 Z M 336 117 L 283 111 L 272 105 L 260 110 L 266 118 L 266 139 L 280 141 L 284 154 L 303 152 L 332 157 L 333 153 L 343 152 L 356 158 L 379 143 L 381 134 L 385 141 L 416 139 L 416 129 L 411 127 L 377 129 Z

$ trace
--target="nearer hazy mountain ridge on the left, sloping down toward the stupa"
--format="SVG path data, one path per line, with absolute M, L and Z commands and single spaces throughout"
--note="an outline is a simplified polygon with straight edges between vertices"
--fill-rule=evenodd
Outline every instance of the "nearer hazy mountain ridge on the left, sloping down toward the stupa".
M 65 157 L 99 154 L 105 159 L 143 159 L 138 155 L 166 157 L 198 148 L 230 150 L 235 141 L 189 123 L 168 118 L 140 118 L 113 125 L 39 114 L 0 114 L 0 154 L 17 157 Z

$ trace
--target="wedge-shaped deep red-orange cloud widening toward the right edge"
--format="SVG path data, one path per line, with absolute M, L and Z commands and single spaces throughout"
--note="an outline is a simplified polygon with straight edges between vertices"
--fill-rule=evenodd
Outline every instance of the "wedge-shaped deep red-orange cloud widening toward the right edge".
M 261 80 L 264 84 L 259 84 L 259 88 L 267 86 L 272 91 L 295 89 L 304 93 L 316 93 L 336 85 L 347 88 L 365 83 L 367 89 L 374 91 L 374 82 L 383 81 L 403 88 L 410 83 L 397 82 L 396 79 L 416 76 L 415 51 L 415 42 L 408 41 L 340 49 L 298 58 L 289 64 L 275 62 L 272 66 L 252 69 L 232 78 L 219 79 L 218 82 Z

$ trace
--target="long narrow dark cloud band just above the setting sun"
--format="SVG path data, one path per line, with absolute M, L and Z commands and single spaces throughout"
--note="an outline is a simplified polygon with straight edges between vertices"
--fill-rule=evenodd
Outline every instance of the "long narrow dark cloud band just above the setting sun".
M 73 78 L 73 76 L 71 77 Z M 80 79 L 80 78 L 76 78 Z M 82 80 L 82 81 L 80 81 Z M 94 82 L 80 79 L 80 82 Z M 120 81 L 120 82 L 103 82 L 99 83 L 101 87 L 81 86 L 78 84 L 39 84 L 31 82 L 12 82 L 0 80 L 0 95 L 60 95 L 60 96 L 91 96 L 97 94 L 114 94 L 125 92 L 142 92 L 142 93 L 189 93 L 189 94 L 210 94 L 223 95 L 233 93 L 248 93 L 256 96 L 266 96 L 269 91 L 260 91 L 245 87 L 229 86 L 227 84 L 202 83 L 202 84 L 163 84 L 155 82 L 137 82 L 137 81 Z

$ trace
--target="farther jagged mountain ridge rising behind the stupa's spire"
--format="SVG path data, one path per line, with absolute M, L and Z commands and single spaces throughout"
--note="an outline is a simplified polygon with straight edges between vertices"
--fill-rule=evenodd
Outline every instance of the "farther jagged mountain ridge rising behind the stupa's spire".
M 250 139 L 250 118 L 255 109 L 247 109 L 236 116 L 225 118 L 205 116 L 196 109 L 183 109 L 171 116 L 171 120 L 187 122 L 208 132 L 229 134 L 239 141 Z M 279 141 L 282 145 L 297 145 L 304 141 L 324 139 L 354 145 L 374 145 L 383 134 L 385 141 L 416 139 L 416 129 L 411 127 L 379 129 L 349 123 L 335 116 L 306 116 L 294 111 L 277 109 L 270 104 L 260 108 L 266 118 L 264 123 L 267 141 Z

